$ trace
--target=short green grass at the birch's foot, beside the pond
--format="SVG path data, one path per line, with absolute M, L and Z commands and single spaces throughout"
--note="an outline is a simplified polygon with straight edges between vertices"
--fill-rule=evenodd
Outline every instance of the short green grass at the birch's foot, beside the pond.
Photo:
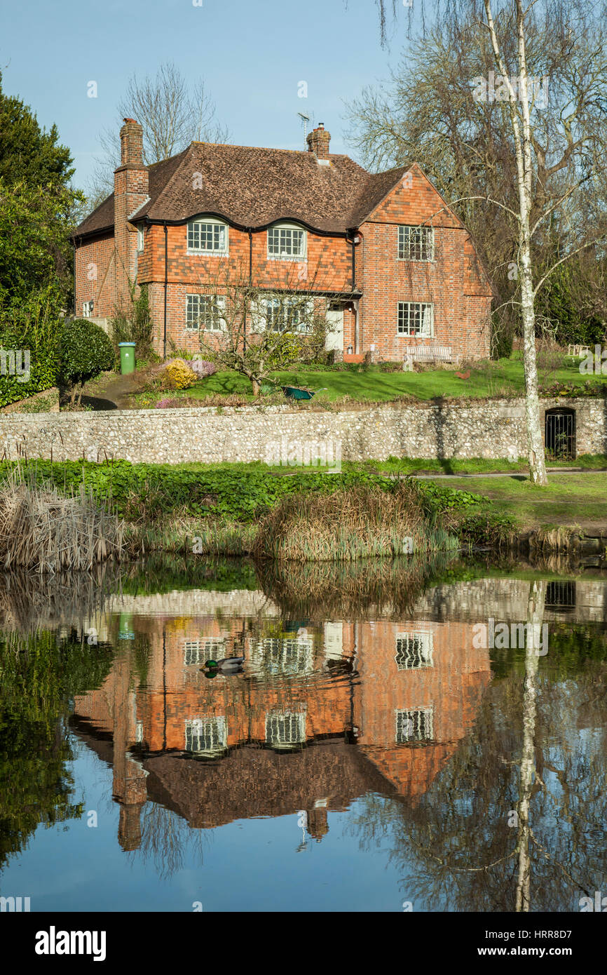
M 550 474 L 549 482 L 535 487 L 526 476 L 513 474 L 436 484 L 485 495 L 488 510 L 512 516 L 519 528 L 607 527 L 607 473 Z

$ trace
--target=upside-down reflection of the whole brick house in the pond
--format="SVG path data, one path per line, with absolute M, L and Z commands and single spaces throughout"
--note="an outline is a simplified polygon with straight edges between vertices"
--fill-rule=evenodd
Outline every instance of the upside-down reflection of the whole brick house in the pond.
M 276 618 L 254 623 L 133 616 L 149 643 L 143 677 L 123 641 L 103 685 L 76 699 L 79 732 L 113 763 L 125 848 L 138 844 L 146 798 L 195 827 L 304 810 L 317 839 L 327 810 L 367 792 L 415 800 L 473 725 L 490 679 L 472 624 L 333 622 L 285 633 Z M 242 648 L 245 674 L 201 673 L 209 656 Z

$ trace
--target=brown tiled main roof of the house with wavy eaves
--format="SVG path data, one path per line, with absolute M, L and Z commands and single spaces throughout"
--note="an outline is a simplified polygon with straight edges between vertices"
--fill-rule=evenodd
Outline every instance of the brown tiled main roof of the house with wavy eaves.
M 370 174 L 349 156 L 192 142 L 178 156 L 149 168 L 150 199 L 133 222 L 181 222 L 216 214 L 242 227 L 293 219 L 325 233 L 359 226 L 406 172 Z M 80 224 L 76 236 L 111 228 L 113 195 Z

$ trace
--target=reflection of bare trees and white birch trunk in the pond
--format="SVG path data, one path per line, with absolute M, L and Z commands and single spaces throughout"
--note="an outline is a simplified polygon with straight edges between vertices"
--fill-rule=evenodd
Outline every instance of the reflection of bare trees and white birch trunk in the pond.
M 544 588 L 530 591 L 530 621 Z M 511 651 L 510 674 L 422 799 L 364 800 L 362 841 L 389 831 L 415 910 L 571 912 L 601 889 L 607 640 L 568 628 L 547 656 L 524 656 L 524 681 Z

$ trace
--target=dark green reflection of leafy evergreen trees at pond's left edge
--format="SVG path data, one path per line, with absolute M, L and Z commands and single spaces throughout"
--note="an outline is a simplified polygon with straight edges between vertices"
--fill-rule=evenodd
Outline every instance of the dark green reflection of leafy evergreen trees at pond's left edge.
M 18 853 L 40 823 L 80 816 L 66 762 L 69 699 L 100 683 L 110 651 L 72 632 L 48 630 L 0 641 L 0 865 Z

